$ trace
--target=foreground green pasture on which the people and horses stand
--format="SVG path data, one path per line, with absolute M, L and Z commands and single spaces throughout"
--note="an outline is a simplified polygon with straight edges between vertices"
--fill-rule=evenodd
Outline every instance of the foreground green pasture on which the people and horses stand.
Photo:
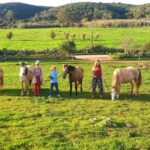
M 59 78 L 62 99 L 47 99 L 49 81 L 42 87 L 42 96 L 20 96 L 18 60 L 5 61 L 5 88 L 0 91 L 0 149 L 150 149 L 150 70 L 142 70 L 143 84 L 139 96 L 128 95 L 129 86 L 122 86 L 119 100 L 105 94 L 91 99 L 91 68 L 93 62 L 50 60 L 41 61 L 44 79 L 50 65 L 83 66 L 83 93 L 69 96 L 68 79 Z M 33 60 L 28 62 L 34 64 Z M 112 72 L 126 63 L 102 63 L 105 80 L 111 87 Z M 132 63 L 136 66 L 137 63 Z

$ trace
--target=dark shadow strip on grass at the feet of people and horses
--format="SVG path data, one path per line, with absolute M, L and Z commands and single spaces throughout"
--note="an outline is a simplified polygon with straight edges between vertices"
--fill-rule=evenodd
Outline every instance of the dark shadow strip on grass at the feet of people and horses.
M 49 96 L 49 88 L 44 88 L 41 89 L 41 97 L 44 97 L 45 99 L 48 98 Z M 32 89 L 29 90 L 30 94 L 29 98 L 34 96 L 34 92 Z M 98 92 L 96 93 L 95 97 L 92 98 L 92 92 L 88 91 L 83 91 L 78 92 L 77 95 L 75 95 L 75 92 L 72 93 L 70 96 L 69 91 L 60 91 L 60 95 L 62 100 L 81 100 L 81 99 L 87 99 L 87 100 L 110 100 L 111 101 L 111 95 L 108 92 L 104 92 L 104 94 L 100 95 Z M 0 90 L 0 96 L 21 96 L 21 89 L 3 89 Z M 22 96 L 23 97 L 23 96 Z M 55 90 L 53 91 L 52 97 L 56 97 Z M 128 95 L 126 93 L 120 94 L 120 98 L 118 99 L 119 101 L 142 101 L 142 102 L 150 102 L 150 94 L 144 93 L 144 94 L 139 94 L 138 96 L 136 95 Z M 118 101 L 116 100 L 116 101 Z

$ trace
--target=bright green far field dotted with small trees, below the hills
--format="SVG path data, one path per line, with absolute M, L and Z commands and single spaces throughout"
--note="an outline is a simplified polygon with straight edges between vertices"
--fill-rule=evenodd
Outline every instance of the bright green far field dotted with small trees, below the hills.
M 6 34 L 12 31 L 14 37 L 6 39 Z M 55 31 L 56 38 L 52 40 L 49 33 Z M 132 37 L 138 45 L 149 41 L 150 27 L 141 28 L 94 28 L 94 44 L 102 44 L 111 48 L 119 48 L 120 41 L 124 37 Z M 41 50 L 57 48 L 65 41 L 64 33 L 75 34 L 77 48 L 91 45 L 91 28 L 50 28 L 50 29 L 0 29 L 0 49 L 29 49 Z M 86 33 L 86 40 L 82 40 L 81 34 Z M 99 39 L 96 34 L 99 33 Z

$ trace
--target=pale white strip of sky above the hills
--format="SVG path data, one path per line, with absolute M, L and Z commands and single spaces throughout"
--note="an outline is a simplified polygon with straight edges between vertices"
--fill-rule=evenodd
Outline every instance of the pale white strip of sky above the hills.
M 67 3 L 76 3 L 76 2 L 122 2 L 127 4 L 145 4 L 150 3 L 150 0 L 0 0 L 0 3 L 6 2 L 22 2 L 34 5 L 43 5 L 43 6 L 60 6 Z

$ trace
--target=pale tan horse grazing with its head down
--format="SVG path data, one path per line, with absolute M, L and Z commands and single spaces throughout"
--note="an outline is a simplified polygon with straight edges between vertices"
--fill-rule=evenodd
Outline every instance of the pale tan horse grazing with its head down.
M 113 72 L 112 77 L 112 91 L 111 91 L 111 98 L 115 100 L 119 98 L 120 88 L 122 83 L 130 83 L 131 84 L 131 91 L 130 95 L 133 94 L 133 86 L 134 83 L 136 85 L 136 95 L 139 94 L 139 87 L 142 82 L 142 75 L 139 68 L 135 67 L 127 67 L 123 69 L 116 69 Z

